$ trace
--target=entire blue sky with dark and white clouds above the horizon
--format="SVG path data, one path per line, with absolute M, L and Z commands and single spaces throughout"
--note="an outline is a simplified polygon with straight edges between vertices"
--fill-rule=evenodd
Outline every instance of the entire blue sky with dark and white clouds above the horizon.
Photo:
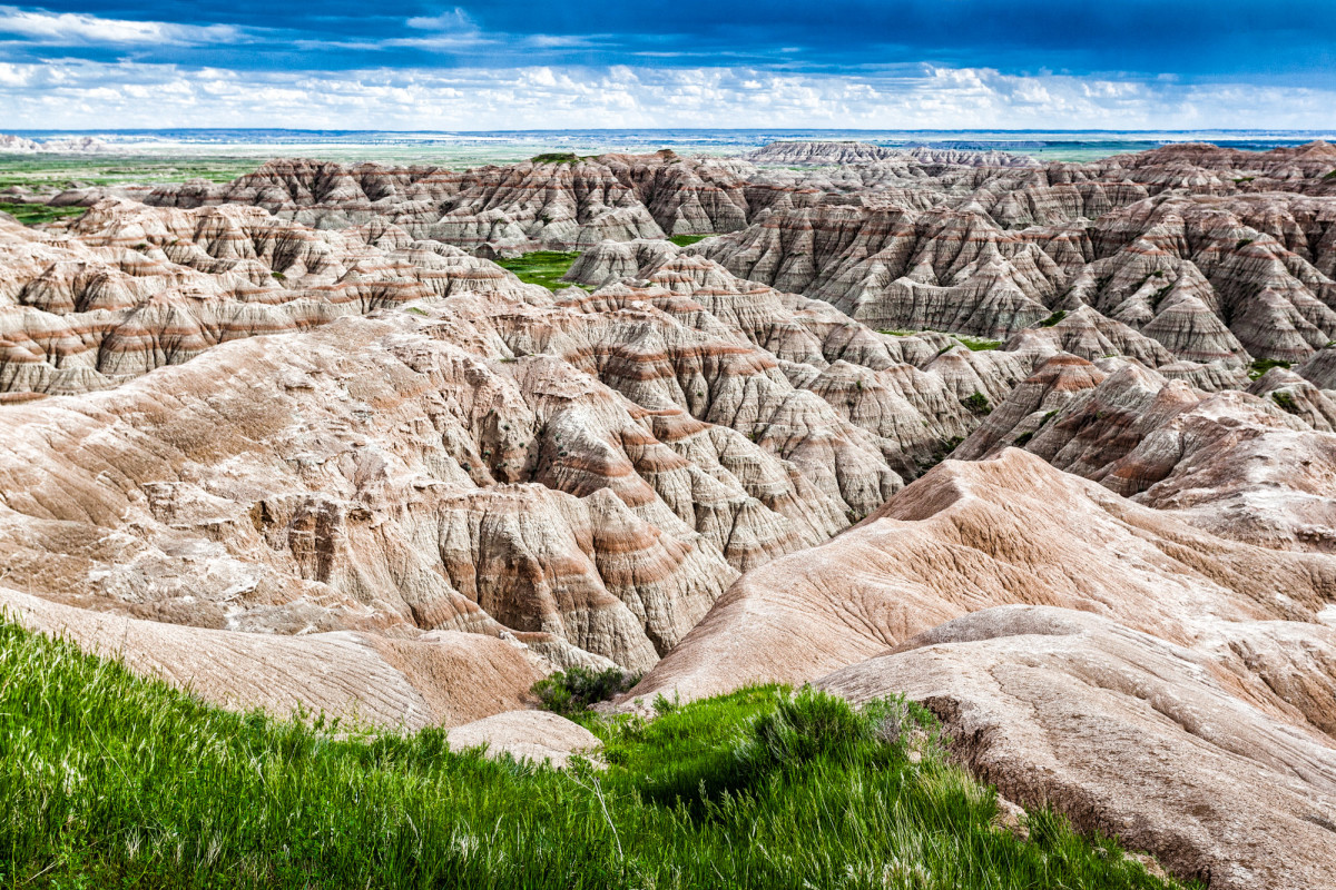
M 1336 0 L 0 4 L 0 131 L 1336 128 Z

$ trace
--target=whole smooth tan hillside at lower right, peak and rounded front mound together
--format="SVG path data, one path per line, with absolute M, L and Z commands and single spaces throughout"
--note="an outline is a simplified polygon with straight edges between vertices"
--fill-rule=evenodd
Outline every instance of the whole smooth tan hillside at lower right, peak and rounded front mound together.
M 1325 887 L 1333 612 L 1336 558 L 1217 538 L 1009 450 L 744 574 L 628 705 L 904 691 L 1014 801 L 1212 886 Z

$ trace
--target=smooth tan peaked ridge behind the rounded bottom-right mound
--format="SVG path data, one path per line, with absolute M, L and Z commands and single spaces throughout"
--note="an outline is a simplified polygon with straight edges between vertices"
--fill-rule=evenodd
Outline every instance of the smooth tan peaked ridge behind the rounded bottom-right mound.
M 633 694 L 802 683 L 1017 603 L 1194 644 L 1233 622 L 1319 620 L 1336 558 L 1216 538 L 1019 450 L 951 460 L 856 528 L 744 574 Z

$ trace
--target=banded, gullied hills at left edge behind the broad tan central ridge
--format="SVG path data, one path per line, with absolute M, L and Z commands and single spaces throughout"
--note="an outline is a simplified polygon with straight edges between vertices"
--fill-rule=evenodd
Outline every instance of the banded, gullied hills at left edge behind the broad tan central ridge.
M 81 392 L 258 334 L 457 291 L 536 299 L 497 266 L 371 223 L 107 199 L 65 232 L 0 220 L 0 392 Z

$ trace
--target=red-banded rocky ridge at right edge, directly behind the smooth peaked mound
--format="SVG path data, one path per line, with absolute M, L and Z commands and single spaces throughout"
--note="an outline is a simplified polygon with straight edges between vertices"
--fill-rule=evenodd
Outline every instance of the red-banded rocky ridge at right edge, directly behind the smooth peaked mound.
M 1202 392 L 1136 364 L 1058 356 L 953 456 L 1018 446 L 1218 535 L 1336 550 L 1336 403 L 1281 368 L 1252 391 Z

